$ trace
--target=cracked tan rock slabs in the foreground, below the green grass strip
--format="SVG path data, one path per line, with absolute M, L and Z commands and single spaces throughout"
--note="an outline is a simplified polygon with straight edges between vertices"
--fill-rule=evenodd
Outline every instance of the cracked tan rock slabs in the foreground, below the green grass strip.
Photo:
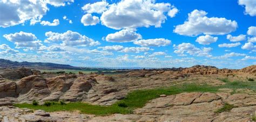
M 151 100 L 133 114 L 113 114 L 111 116 L 93 116 L 77 112 L 45 112 L 42 110 L 31 111 L 15 107 L 0 107 L 0 120 L 9 121 L 251 121 L 255 114 L 256 105 L 236 106 L 229 112 L 215 113 L 224 106 L 223 99 L 232 98 L 233 102 L 239 101 L 242 94 L 219 93 L 180 93 L 177 95 L 160 97 Z M 180 97 L 183 96 L 183 99 Z M 247 96 L 256 98 L 256 96 Z M 197 102 L 187 102 L 194 98 Z M 174 105 L 175 99 L 186 105 Z

